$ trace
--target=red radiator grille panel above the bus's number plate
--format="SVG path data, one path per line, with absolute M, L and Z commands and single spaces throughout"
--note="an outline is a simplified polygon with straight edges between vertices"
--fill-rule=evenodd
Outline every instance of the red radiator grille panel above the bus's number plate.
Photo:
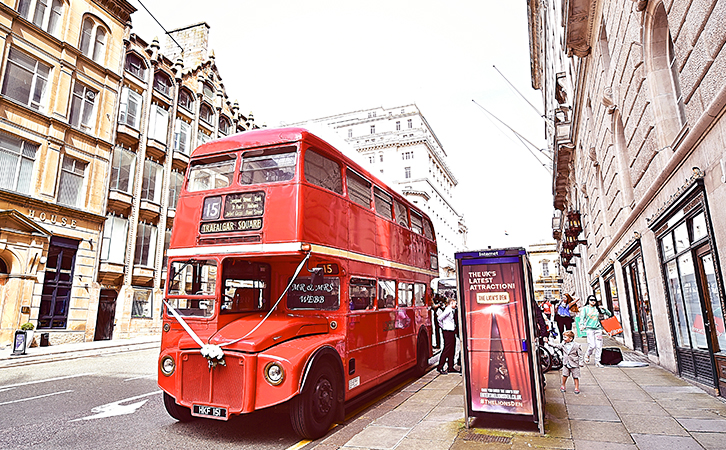
M 198 351 L 182 357 L 182 399 L 185 402 L 224 406 L 240 411 L 244 401 L 244 358 L 225 355 L 226 366 L 209 368 Z

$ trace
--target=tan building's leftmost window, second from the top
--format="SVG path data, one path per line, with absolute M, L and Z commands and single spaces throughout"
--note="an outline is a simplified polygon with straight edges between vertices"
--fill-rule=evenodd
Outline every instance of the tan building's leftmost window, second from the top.
M 36 111 L 43 111 L 49 75 L 50 66 L 11 48 L 5 69 L 3 95 Z

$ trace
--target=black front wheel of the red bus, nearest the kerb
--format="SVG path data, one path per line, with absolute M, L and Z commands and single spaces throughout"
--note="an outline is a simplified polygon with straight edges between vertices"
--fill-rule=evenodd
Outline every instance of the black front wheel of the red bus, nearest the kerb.
M 315 440 L 325 436 L 336 417 L 339 389 L 333 366 L 316 363 L 302 394 L 290 402 L 290 422 L 300 437 Z

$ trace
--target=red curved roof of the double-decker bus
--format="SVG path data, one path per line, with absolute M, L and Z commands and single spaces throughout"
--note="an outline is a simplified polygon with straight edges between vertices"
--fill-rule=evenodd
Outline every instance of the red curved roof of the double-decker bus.
M 255 147 L 268 147 L 273 145 L 289 144 L 300 140 L 317 141 L 317 143 L 324 144 L 328 149 L 333 149 L 337 152 L 336 157 L 345 163 L 348 167 L 358 172 L 366 179 L 373 182 L 374 185 L 385 188 L 386 191 L 392 194 L 394 197 L 404 200 L 417 213 L 422 214 L 427 219 L 431 220 L 425 212 L 423 212 L 417 206 L 399 194 L 395 189 L 392 189 L 386 183 L 378 179 L 375 175 L 368 172 L 361 165 L 350 159 L 343 152 L 337 149 L 335 146 L 329 144 L 321 137 L 311 133 L 305 128 L 299 127 L 286 127 L 286 128 L 260 128 L 257 130 L 244 131 L 242 133 L 233 134 L 223 138 L 209 141 L 205 144 L 197 147 L 193 152 L 192 158 L 200 158 L 205 156 L 218 155 L 229 151 L 239 150 L 241 148 L 255 148 Z

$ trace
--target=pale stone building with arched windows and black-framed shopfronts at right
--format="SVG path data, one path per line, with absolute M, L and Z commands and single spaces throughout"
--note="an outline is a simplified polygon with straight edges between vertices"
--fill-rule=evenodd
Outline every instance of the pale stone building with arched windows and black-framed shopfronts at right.
M 726 394 L 726 1 L 530 0 L 565 289 Z

